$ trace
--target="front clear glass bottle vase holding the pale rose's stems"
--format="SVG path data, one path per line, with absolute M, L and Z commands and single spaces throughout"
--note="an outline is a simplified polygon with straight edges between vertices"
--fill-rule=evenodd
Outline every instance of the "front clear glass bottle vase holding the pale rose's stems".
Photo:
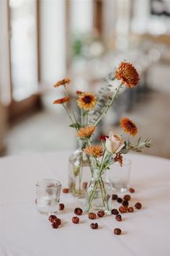
M 109 215 L 112 207 L 112 184 L 106 179 L 106 171 L 94 169 L 94 177 L 86 192 L 86 212 L 104 210 Z

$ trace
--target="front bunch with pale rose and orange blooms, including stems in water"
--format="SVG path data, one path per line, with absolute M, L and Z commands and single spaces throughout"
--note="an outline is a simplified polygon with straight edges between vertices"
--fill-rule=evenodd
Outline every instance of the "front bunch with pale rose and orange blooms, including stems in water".
M 92 189 L 89 186 L 89 196 L 87 197 L 86 202 L 87 212 L 91 208 L 93 209 L 93 207 L 91 207 L 91 203 L 95 197 L 98 187 L 102 194 L 102 209 L 104 209 L 107 213 L 110 211 L 108 204 L 109 197 L 102 179 L 102 174 L 104 174 L 104 171 L 107 171 L 107 169 L 109 169 L 110 166 L 112 166 L 112 164 L 115 162 L 119 162 L 120 166 L 122 166 L 122 155 L 128 153 L 130 150 L 141 152 L 143 148 L 151 147 L 151 140 L 141 140 L 141 137 L 135 144 L 130 142 L 130 138 L 127 135 L 134 137 L 138 133 L 138 128 L 132 120 L 128 119 L 127 117 L 122 118 L 120 120 L 120 126 L 123 128 L 120 135 L 111 131 L 109 132 L 109 136 L 102 135 L 102 137 L 99 137 L 99 139 L 102 141 L 102 145 L 90 145 L 84 149 L 86 154 L 93 158 L 91 163 L 93 164 L 94 170 L 97 171 Z

